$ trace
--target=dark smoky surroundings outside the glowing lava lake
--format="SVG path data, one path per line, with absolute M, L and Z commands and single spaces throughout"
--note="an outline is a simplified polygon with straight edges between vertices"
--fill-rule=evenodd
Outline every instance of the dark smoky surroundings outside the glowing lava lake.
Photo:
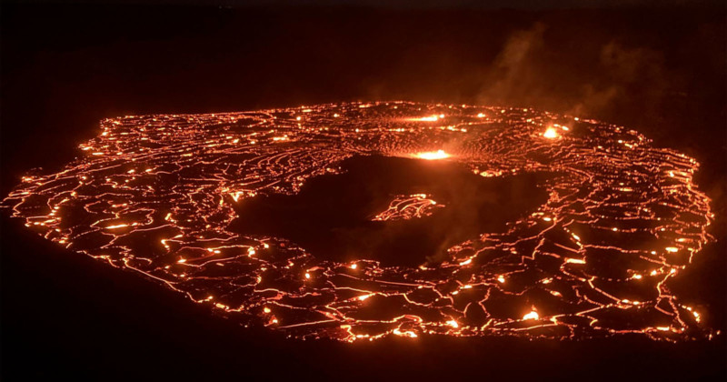
M 674 284 L 708 325 L 724 329 L 722 2 L 194 3 L 4 2 L 2 195 L 29 169 L 72 160 L 110 116 L 407 99 L 596 117 L 702 163 L 697 182 L 714 201 L 718 240 Z M 676 345 L 641 337 L 285 340 L 22 228 L 3 216 L 6 380 L 727 377 L 724 335 Z

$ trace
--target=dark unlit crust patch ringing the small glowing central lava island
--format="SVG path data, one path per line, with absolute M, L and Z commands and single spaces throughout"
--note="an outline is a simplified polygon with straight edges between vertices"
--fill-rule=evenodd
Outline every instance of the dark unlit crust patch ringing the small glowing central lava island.
M 454 162 L 386 156 L 354 156 L 340 166 L 342 174 L 314 177 L 295 195 L 234 204 L 240 217 L 229 229 L 286 237 L 325 260 L 419 266 L 441 262 L 447 248 L 483 232 L 504 232 L 548 199 L 537 187 L 547 174 L 483 177 Z M 445 206 L 432 216 L 372 221 L 402 194 L 431 195 Z

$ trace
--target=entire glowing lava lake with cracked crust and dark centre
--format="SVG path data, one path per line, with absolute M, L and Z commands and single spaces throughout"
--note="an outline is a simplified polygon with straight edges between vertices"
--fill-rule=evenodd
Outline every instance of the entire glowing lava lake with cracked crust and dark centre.
M 343 341 L 712 336 L 669 286 L 712 240 L 698 164 L 636 131 L 409 102 L 101 128 L 3 206 L 241 324 Z

